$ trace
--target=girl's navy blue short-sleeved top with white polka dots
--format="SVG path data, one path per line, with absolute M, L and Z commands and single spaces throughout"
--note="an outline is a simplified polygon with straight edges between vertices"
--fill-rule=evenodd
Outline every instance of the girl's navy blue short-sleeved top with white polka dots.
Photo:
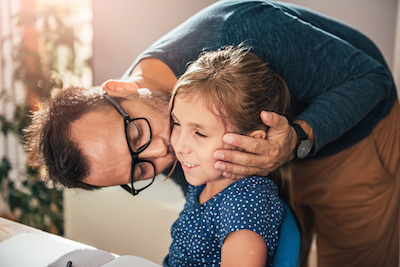
M 200 204 L 203 188 L 189 185 L 185 207 L 171 228 L 172 244 L 163 266 L 220 266 L 225 237 L 241 229 L 264 238 L 267 266 L 272 266 L 283 217 L 275 183 L 267 177 L 247 177 Z

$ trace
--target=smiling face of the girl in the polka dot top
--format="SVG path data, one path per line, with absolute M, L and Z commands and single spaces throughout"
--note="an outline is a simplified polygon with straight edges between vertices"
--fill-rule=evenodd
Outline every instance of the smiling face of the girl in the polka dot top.
M 213 153 L 223 148 L 226 132 L 221 118 L 214 115 L 197 95 L 175 98 L 171 111 L 171 145 L 191 185 L 202 185 L 222 178 L 214 168 Z

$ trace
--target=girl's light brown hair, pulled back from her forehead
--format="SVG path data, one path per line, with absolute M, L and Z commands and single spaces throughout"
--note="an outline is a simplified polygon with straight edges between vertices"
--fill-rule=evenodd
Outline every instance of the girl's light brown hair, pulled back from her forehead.
M 285 81 L 250 50 L 241 44 L 202 53 L 175 84 L 171 110 L 177 96 L 197 95 L 239 134 L 267 131 L 260 118 L 263 110 L 288 116 L 290 94 Z M 282 187 L 281 179 L 275 182 Z

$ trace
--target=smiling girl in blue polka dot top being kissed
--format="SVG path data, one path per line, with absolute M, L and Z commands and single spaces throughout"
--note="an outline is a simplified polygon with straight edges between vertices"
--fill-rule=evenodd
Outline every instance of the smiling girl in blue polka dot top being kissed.
M 225 133 L 266 138 L 254 118 L 263 110 L 286 115 L 289 107 L 283 79 L 249 50 L 203 53 L 173 90 L 171 143 L 190 185 L 164 266 L 272 266 L 283 215 L 276 183 L 234 181 L 213 167 Z

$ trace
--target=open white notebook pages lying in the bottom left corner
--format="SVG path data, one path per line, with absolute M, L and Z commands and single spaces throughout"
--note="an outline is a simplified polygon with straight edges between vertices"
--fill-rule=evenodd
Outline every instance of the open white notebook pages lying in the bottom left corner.
M 56 235 L 22 233 L 0 243 L 0 266 L 159 267 L 137 256 L 118 256 Z

